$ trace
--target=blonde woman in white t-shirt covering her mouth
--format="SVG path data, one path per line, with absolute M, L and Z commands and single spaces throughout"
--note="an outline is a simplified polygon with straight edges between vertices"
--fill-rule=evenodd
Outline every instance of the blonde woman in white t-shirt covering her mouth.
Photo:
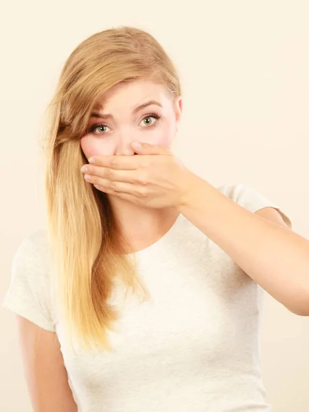
M 181 88 L 150 34 L 88 38 L 50 107 L 49 230 L 21 244 L 4 304 L 34 411 L 268 411 L 261 290 L 309 315 L 308 240 L 172 155 Z

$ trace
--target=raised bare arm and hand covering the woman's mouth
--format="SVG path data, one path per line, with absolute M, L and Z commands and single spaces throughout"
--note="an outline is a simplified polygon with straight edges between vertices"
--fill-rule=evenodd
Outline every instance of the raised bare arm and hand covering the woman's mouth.
M 111 199 L 150 213 L 174 208 L 288 310 L 309 316 L 309 240 L 292 231 L 277 209 L 252 213 L 185 168 L 166 146 L 139 144 L 139 135 L 128 142 L 137 156 L 89 153 L 84 179 Z

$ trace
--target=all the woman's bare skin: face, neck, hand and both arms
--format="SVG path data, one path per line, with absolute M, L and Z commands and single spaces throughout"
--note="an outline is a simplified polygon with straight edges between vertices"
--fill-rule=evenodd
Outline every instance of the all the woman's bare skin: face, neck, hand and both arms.
M 161 107 L 152 103 L 135 113 L 150 100 Z M 291 312 L 309 315 L 309 241 L 293 232 L 277 210 L 251 213 L 172 155 L 180 98 L 173 102 L 151 82 L 119 84 L 98 102 L 98 112 L 89 128 L 104 126 L 80 142 L 90 163 L 82 173 L 108 194 L 133 251 L 154 243 L 181 213 Z M 155 119 L 145 120 L 150 113 L 161 115 L 156 126 L 150 126 Z M 144 144 L 137 147 L 135 141 Z M 19 325 L 34 411 L 76 412 L 55 334 L 23 318 Z

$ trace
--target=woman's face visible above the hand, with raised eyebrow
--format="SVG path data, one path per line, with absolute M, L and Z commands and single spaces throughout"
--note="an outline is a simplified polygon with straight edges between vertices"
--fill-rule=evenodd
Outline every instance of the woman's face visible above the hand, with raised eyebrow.
M 109 90 L 80 140 L 84 155 L 134 155 L 133 141 L 170 148 L 181 118 L 181 98 L 148 80 L 119 83 Z

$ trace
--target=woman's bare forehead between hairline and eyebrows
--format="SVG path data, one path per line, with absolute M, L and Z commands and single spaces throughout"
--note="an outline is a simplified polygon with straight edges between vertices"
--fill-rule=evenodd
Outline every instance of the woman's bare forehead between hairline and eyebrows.
M 95 104 L 95 109 L 100 111 L 132 109 L 148 100 L 157 100 L 165 106 L 170 101 L 170 96 L 163 84 L 151 80 L 121 82 L 104 94 L 103 98 Z

